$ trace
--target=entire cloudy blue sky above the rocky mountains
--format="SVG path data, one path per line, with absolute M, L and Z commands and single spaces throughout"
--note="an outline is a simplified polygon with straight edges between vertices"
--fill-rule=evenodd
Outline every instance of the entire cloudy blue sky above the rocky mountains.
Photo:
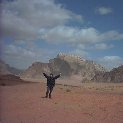
M 58 53 L 123 64 L 123 0 L 3 0 L 0 8 L 0 57 L 13 67 Z

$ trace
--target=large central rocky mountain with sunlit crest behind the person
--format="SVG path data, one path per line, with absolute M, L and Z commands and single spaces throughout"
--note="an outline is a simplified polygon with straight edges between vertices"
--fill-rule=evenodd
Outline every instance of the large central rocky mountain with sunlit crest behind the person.
M 43 72 L 59 74 L 62 78 L 79 76 L 81 80 L 90 80 L 96 73 L 106 71 L 101 65 L 75 55 L 58 54 L 49 63 L 35 62 L 22 74 L 22 78 L 40 79 Z

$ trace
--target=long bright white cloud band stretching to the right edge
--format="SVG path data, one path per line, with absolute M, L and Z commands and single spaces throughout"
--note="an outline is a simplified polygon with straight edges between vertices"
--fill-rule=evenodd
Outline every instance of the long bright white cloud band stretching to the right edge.
M 122 33 L 114 30 L 101 33 L 93 27 L 80 29 L 77 27 L 56 26 L 52 29 L 41 29 L 40 36 L 48 42 L 68 42 L 71 44 L 95 44 L 103 41 L 123 40 Z

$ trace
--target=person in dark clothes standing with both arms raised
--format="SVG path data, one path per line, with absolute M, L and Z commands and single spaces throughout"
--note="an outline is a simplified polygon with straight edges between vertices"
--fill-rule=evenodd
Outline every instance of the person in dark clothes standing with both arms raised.
M 61 73 L 57 76 L 53 76 L 52 73 L 50 73 L 50 76 L 48 76 L 46 73 L 43 73 L 43 75 L 45 76 L 45 78 L 47 78 L 47 91 L 46 91 L 45 98 L 48 98 L 48 95 L 49 95 L 49 98 L 51 98 L 51 93 L 55 86 L 55 80 L 61 76 Z

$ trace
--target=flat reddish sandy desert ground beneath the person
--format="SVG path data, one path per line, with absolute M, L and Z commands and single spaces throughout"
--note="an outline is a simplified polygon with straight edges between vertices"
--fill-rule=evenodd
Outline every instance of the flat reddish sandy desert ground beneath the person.
M 0 86 L 1 123 L 123 123 L 123 84 Z

